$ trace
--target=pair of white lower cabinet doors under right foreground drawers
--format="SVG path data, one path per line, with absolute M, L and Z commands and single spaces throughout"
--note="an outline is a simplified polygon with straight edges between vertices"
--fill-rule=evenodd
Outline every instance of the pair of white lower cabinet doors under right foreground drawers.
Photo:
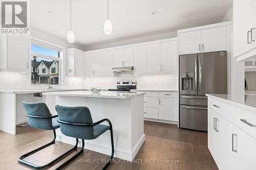
M 255 169 L 256 139 L 209 107 L 208 149 L 219 169 Z

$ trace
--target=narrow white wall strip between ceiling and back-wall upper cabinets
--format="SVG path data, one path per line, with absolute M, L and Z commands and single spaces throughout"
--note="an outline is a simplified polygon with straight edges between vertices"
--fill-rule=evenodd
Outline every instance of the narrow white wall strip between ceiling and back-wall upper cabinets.
M 177 37 L 177 31 L 175 32 L 167 32 L 167 33 L 161 33 L 161 34 L 152 34 L 152 35 L 144 35 L 144 36 L 133 36 L 133 37 L 126 37 L 122 38 L 122 40 L 111 40 L 111 42 L 101 42 L 99 44 L 95 45 L 86 45 L 84 46 L 84 51 L 91 51 L 91 50 L 99 50 L 102 48 L 109 48 L 109 47 L 115 47 L 115 46 L 122 46 L 122 45 L 129 45 L 129 44 L 135 44 L 135 43 L 141 43 L 141 42 L 147 42 L 147 41 L 155 41 L 155 40 L 161 40 L 166 38 L 174 38 Z

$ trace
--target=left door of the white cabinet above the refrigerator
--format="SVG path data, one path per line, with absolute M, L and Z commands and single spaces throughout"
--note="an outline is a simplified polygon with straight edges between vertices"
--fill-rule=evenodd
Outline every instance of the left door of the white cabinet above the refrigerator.
M 179 34 L 179 54 L 201 53 L 201 30 Z

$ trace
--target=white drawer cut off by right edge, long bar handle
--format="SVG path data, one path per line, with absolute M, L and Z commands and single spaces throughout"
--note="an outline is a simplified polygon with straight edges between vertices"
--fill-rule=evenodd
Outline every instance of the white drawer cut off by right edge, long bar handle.
M 238 107 L 234 110 L 234 124 L 256 139 L 256 113 Z

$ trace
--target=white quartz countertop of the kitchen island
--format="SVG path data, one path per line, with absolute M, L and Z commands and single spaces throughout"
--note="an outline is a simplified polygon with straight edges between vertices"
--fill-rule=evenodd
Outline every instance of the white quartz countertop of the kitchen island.
M 55 91 L 42 93 L 43 95 L 62 95 L 62 96 L 78 96 L 88 98 L 113 98 L 113 99 L 129 99 L 138 95 L 144 95 L 143 92 L 118 92 L 118 91 L 101 91 L 92 93 L 91 91 Z

